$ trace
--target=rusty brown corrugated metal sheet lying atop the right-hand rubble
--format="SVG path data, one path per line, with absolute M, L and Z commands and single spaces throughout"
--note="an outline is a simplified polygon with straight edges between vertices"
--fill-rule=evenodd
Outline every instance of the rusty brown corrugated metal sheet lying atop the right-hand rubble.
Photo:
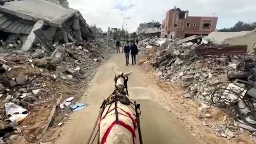
M 241 54 L 247 53 L 247 45 L 234 46 L 214 46 L 199 48 L 199 53 L 202 55 L 219 55 L 219 54 Z

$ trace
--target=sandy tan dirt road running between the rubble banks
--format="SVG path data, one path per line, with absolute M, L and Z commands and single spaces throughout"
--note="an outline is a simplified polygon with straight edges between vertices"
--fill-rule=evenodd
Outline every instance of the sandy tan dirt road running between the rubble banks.
M 114 90 L 115 66 L 122 72 L 133 70 L 129 77 L 128 89 L 131 101 L 137 100 L 141 104 L 141 129 L 144 144 L 199 144 L 197 137 L 192 136 L 184 128 L 177 116 L 164 110 L 154 97 L 161 93 L 160 89 L 153 87 L 147 77 L 139 71 L 137 66 L 125 66 L 124 54 L 114 54 L 111 59 L 101 65 L 90 88 L 81 98 L 81 102 L 89 106 L 77 111 L 65 123 L 56 141 L 57 144 L 85 144 L 95 124 L 99 107 L 102 101 Z

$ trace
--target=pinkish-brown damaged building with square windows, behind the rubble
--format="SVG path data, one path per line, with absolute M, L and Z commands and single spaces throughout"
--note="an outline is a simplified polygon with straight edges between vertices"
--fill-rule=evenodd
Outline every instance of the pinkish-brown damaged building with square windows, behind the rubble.
M 208 35 L 216 30 L 218 17 L 188 16 L 189 11 L 179 8 L 168 10 L 161 25 L 161 38 L 186 38 L 192 35 Z

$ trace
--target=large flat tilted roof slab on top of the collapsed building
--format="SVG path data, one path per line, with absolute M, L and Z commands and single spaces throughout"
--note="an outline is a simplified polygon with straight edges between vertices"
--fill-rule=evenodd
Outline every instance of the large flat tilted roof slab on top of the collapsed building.
M 42 19 L 54 27 L 61 27 L 63 22 L 77 12 L 77 10 L 67 9 L 44 0 L 6 2 L 0 6 L 0 10 L 25 20 L 38 21 Z

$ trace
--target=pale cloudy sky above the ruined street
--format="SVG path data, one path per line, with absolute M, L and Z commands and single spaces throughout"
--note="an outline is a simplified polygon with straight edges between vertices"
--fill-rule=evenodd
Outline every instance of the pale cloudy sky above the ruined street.
M 69 6 L 79 10 L 89 25 L 106 31 L 108 27 L 136 31 L 140 23 L 161 21 L 166 11 L 178 6 L 189 10 L 190 16 L 218 16 L 217 29 L 232 27 L 236 22 L 256 21 L 256 0 L 68 0 Z M 125 28 L 125 27 L 124 27 Z

